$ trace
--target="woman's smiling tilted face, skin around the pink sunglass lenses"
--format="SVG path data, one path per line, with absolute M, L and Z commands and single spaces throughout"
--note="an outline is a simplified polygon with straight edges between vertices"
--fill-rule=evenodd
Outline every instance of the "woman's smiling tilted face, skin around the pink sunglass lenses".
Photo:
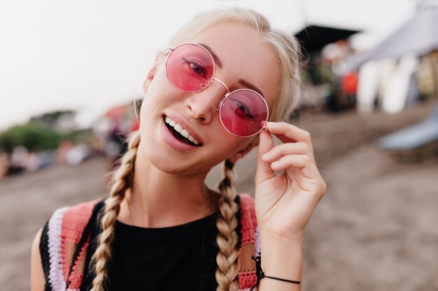
M 230 91 L 261 91 L 268 106 L 273 104 L 280 80 L 278 62 L 256 31 L 223 23 L 188 42 L 205 45 L 217 56 L 213 77 Z M 148 161 L 169 174 L 197 174 L 227 158 L 244 156 L 258 137 L 236 137 L 222 126 L 217 109 L 226 87 L 213 81 L 202 91 L 184 92 L 167 79 L 164 61 L 157 64 L 145 82 L 140 117 L 139 150 Z

